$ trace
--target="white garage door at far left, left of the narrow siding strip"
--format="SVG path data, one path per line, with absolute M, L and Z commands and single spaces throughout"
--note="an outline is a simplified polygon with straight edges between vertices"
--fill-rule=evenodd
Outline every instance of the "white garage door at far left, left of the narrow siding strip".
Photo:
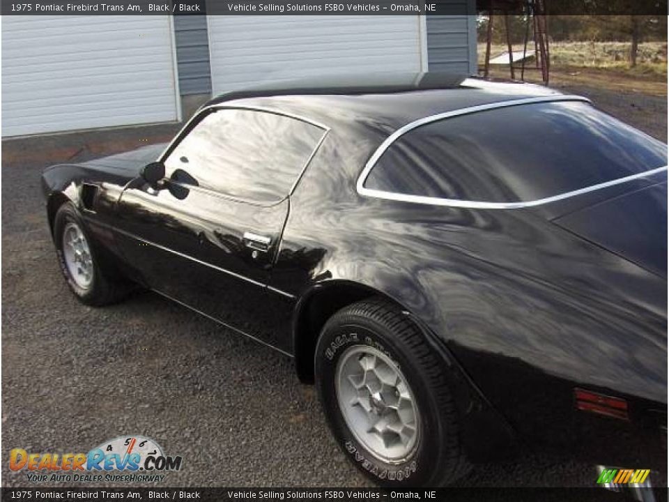
M 2 135 L 174 121 L 167 16 L 3 16 Z

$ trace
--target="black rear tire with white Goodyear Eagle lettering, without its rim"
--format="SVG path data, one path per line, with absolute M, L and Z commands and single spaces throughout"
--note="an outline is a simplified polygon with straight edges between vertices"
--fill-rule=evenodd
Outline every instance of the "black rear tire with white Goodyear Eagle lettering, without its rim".
M 346 356 L 342 356 L 364 352 L 364 347 L 372 347 L 394 362 L 413 393 L 420 434 L 406 458 L 386 462 L 371 452 L 357 439 L 339 406 L 339 360 L 345 367 Z M 383 298 L 371 298 L 339 310 L 321 331 L 314 362 L 316 388 L 330 429 L 346 456 L 371 480 L 388 487 L 436 487 L 468 472 L 470 464 L 459 441 L 443 358 L 399 307 Z

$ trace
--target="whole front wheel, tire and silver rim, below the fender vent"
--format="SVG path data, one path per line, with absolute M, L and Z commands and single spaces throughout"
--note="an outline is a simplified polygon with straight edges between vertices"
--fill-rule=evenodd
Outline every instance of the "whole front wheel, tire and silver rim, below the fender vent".
M 130 284 L 102 264 L 82 217 L 71 202 L 63 204 L 56 213 L 54 241 L 63 276 L 79 301 L 107 305 L 128 294 Z

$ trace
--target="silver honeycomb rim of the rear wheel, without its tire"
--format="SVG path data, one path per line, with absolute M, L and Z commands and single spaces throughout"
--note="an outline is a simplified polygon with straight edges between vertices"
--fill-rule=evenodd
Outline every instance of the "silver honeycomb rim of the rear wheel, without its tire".
M 418 446 L 420 416 L 399 367 L 367 345 L 348 347 L 337 362 L 337 402 L 346 425 L 372 455 L 404 462 Z

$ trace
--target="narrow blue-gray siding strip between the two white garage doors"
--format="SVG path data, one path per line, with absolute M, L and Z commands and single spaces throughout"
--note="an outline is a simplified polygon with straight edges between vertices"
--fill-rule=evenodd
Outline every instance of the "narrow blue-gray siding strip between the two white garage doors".
M 174 16 L 174 36 L 180 94 L 211 93 L 206 15 Z

